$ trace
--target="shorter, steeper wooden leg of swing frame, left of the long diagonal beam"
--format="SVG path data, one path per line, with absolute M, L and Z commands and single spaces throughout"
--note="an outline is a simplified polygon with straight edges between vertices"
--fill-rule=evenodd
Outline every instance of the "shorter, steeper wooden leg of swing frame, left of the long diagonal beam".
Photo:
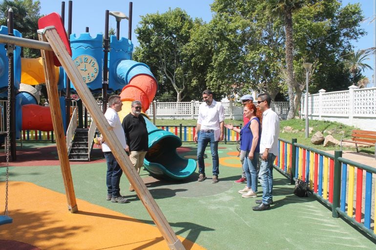
M 44 40 L 41 35 L 38 36 L 40 40 Z M 48 100 L 50 103 L 52 125 L 56 135 L 56 147 L 58 150 L 60 168 L 63 175 L 65 196 L 68 203 L 68 210 L 74 213 L 78 211 L 78 208 L 76 195 L 74 193 L 72 173 L 70 172 L 68 150 L 65 145 L 65 132 L 63 128 L 63 117 L 60 109 L 58 85 L 55 81 L 55 66 L 53 59 L 54 53 L 47 50 L 41 50 L 41 53 L 43 59 L 44 76 L 46 78 Z

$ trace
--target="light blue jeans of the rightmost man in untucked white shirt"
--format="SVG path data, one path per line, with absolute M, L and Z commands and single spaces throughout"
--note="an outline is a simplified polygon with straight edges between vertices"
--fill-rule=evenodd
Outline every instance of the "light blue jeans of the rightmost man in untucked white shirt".
M 262 203 L 269 204 L 273 198 L 273 162 L 275 155 L 268 154 L 266 160 L 261 160 L 259 179 L 262 187 Z

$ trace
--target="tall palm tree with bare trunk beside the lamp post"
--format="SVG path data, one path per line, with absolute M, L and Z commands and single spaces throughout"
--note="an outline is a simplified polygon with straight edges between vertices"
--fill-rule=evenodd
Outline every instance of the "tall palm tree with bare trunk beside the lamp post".
M 287 68 L 287 84 L 288 84 L 288 94 L 289 94 L 289 114 L 287 119 L 292 119 L 295 116 L 295 105 L 294 105 L 294 77 L 293 77 L 293 49 L 294 42 L 292 38 L 292 13 L 300 9 L 304 0 L 268 0 L 270 4 L 270 14 L 271 17 L 277 16 L 284 20 L 285 24 L 285 36 L 286 36 L 286 68 Z M 298 87 L 298 86 L 297 86 Z

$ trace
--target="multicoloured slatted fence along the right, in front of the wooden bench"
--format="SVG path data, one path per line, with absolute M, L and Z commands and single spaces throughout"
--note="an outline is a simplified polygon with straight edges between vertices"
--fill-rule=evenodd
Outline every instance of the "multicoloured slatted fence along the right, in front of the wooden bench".
M 309 183 L 312 194 L 345 220 L 376 239 L 376 168 L 279 139 L 275 167 L 287 177 Z

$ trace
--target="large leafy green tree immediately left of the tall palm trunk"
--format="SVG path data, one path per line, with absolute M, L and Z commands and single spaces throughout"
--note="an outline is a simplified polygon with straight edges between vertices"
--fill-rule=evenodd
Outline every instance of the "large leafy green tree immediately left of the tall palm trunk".
M 280 67 L 282 33 L 266 17 L 266 2 L 215 0 L 211 10 L 208 40 L 213 44 L 213 60 L 208 85 L 226 96 L 262 89 L 274 99 L 280 90 L 275 73 Z

